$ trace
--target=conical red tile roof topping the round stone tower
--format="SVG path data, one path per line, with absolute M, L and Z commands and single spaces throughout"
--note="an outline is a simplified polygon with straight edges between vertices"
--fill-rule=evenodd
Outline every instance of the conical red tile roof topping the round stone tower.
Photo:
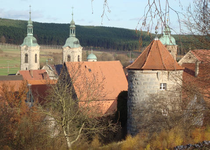
M 153 40 L 127 67 L 134 70 L 183 70 L 160 40 Z

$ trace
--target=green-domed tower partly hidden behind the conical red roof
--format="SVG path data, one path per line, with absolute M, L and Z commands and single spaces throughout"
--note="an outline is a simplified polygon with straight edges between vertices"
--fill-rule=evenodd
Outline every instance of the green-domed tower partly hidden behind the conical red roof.
M 163 36 L 160 38 L 160 41 L 162 42 L 163 45 L 165 45 L 170 54 L 176 60 L 176 55 L 177 55 L 176 40 L 174 39 L 174 37 L 171 36 L 171 30 L 168 26 L 165 27 Z

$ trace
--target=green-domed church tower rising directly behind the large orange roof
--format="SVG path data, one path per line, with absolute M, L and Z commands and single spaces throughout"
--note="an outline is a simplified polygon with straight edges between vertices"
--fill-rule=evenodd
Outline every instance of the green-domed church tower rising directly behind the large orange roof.
M 72 21 L 70 23 L 69 38 L 66 40 L 66 43 L 63 46 L 63 63 L 69 61 L 82 61 L 82 47 L 79 43 L 79 40 L 76 38 L 76 26 L 73 20 L 73 12 Z

